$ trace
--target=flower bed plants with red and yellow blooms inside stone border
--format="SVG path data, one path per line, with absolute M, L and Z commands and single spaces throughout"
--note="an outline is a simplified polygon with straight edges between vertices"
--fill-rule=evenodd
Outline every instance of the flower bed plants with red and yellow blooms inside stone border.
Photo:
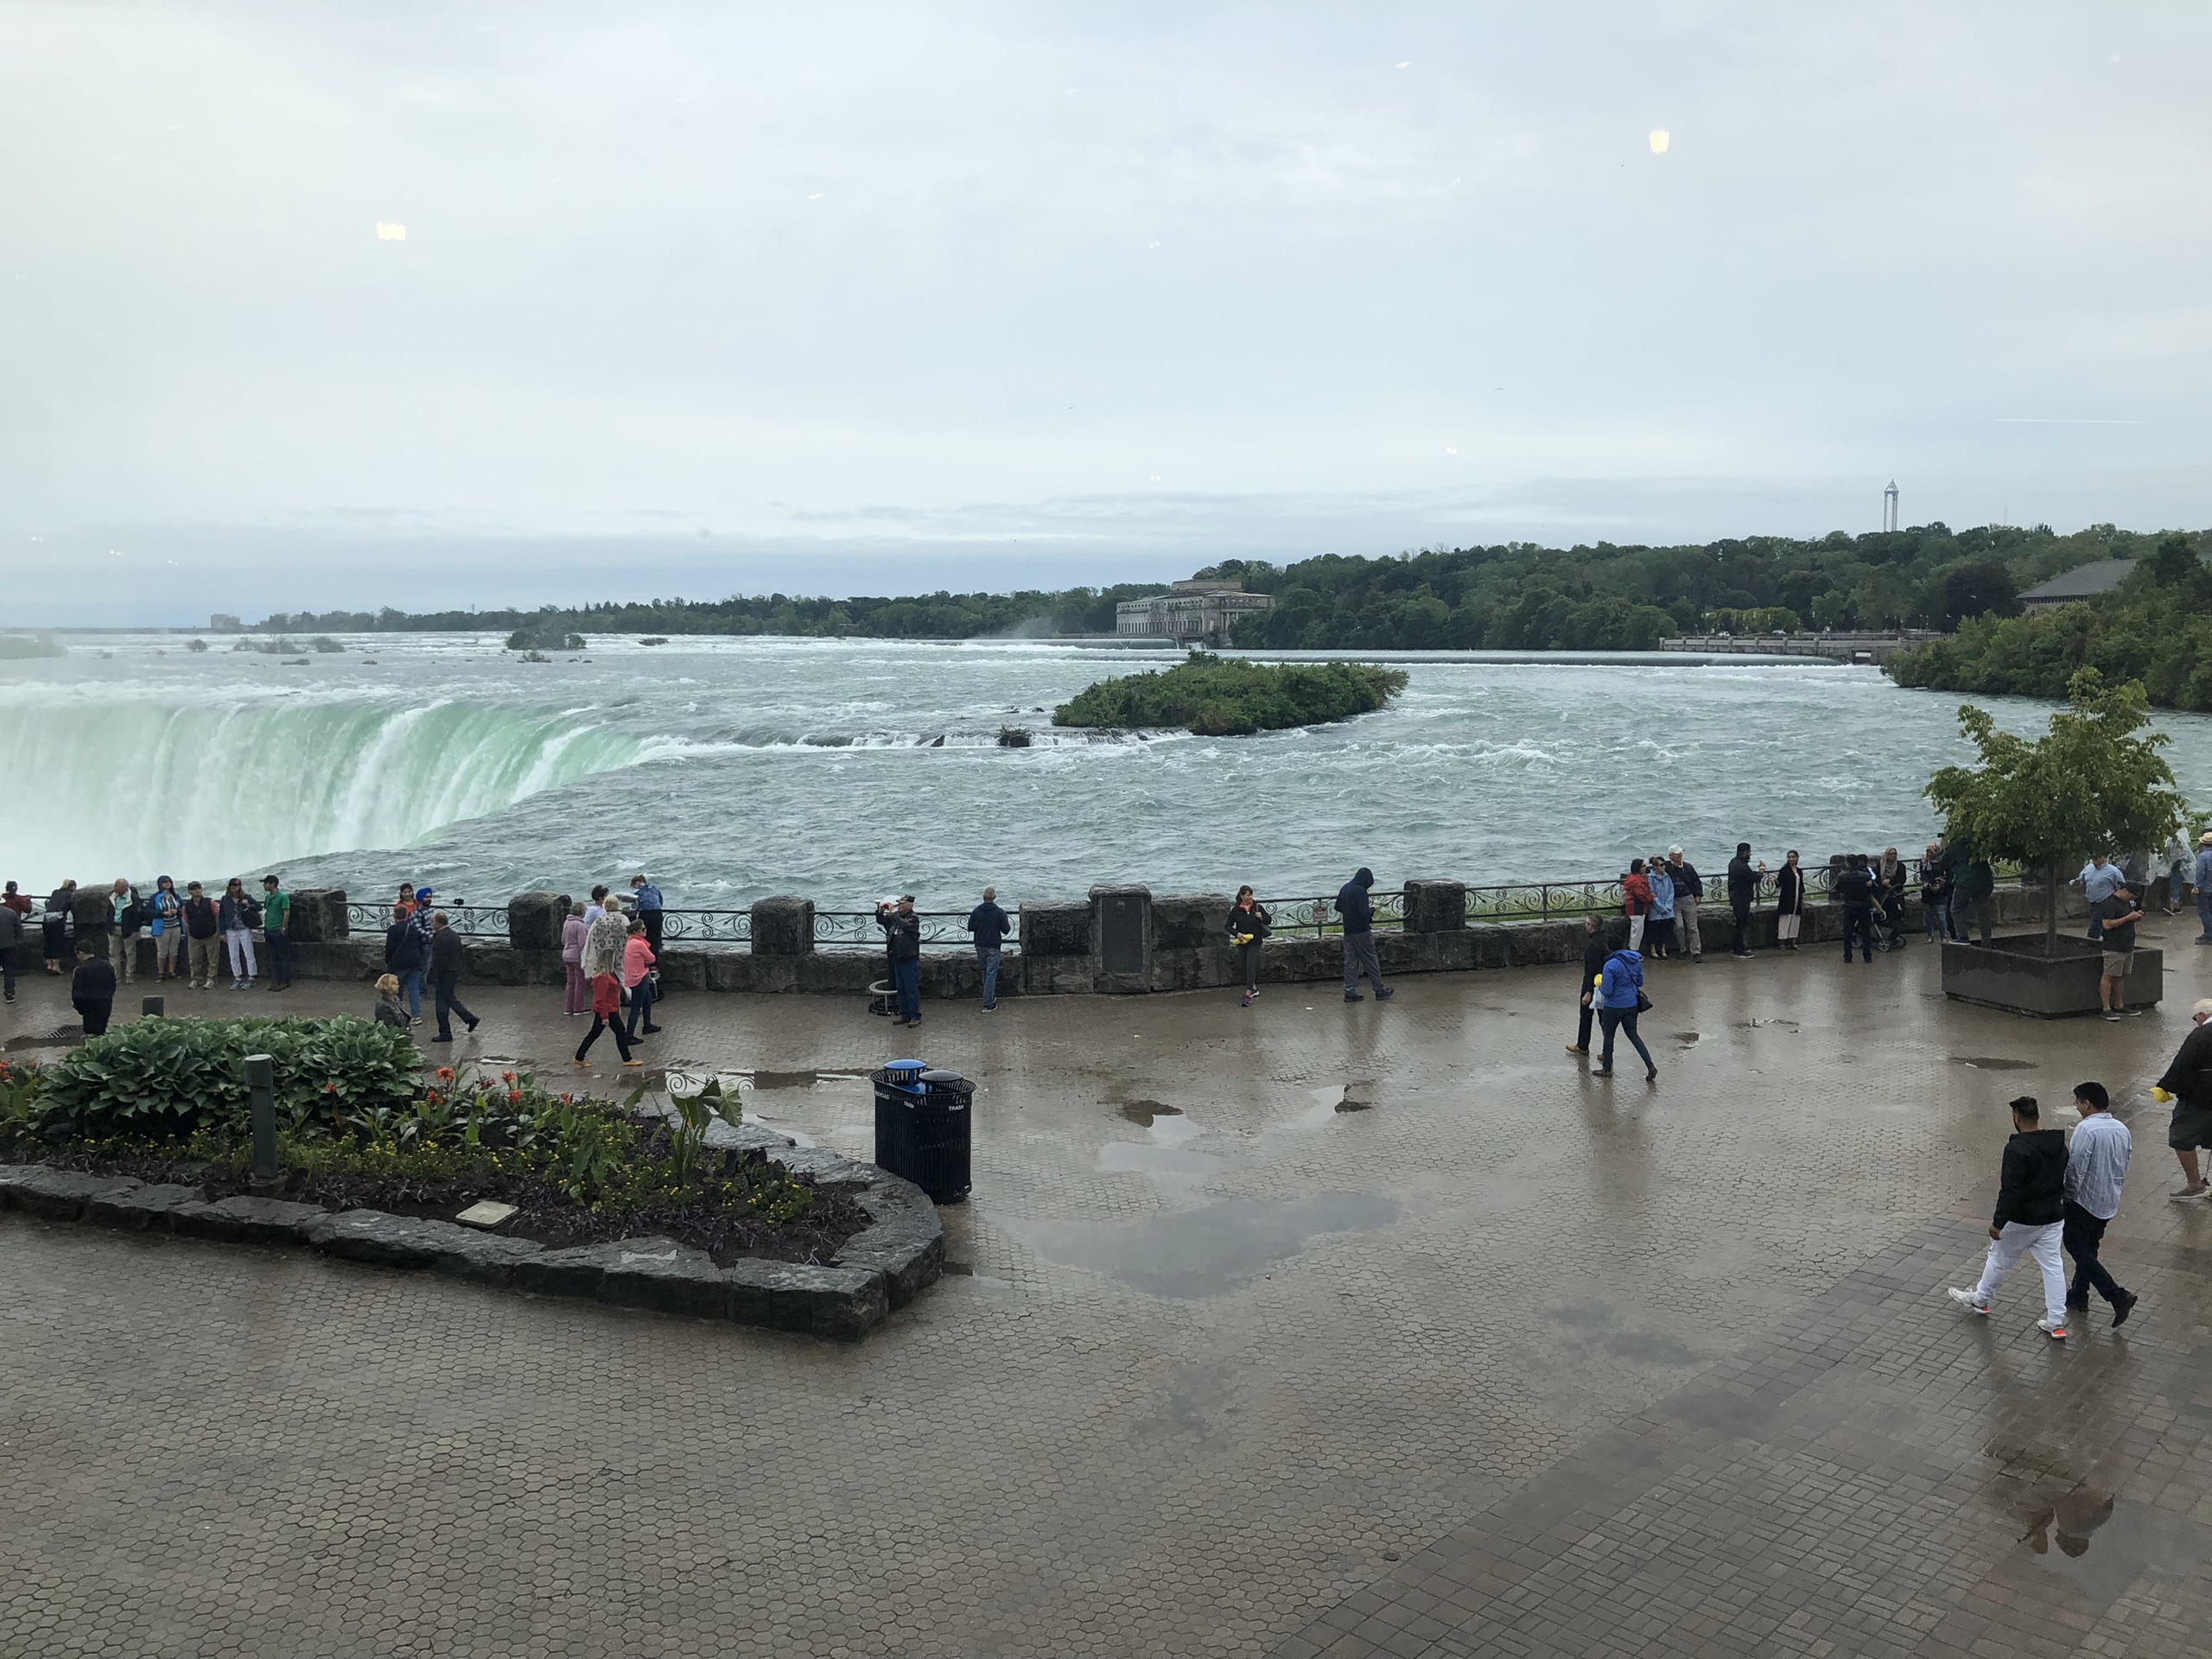
M 405 1033 L 392 1033 L 409 1053 Z M 818 1181 L 759 1146 L 710 1146 L 739 1102 L 708 1088 L 677 1119 L 555 1095 L 529 1073 L 403 1075 L 361 1020 L 139 1020 L 44 1066 L 0 1062 L 0 1159 L 281 1197 L 325 1210 L 453 1219 L 515 1206 L 502 1234 L 549 1248 L 639 1234 L 728 1265 L 825 1263 L 869 1228 L 852 1183 Z M 279 1188 L 250 1170 L 250 1102 L 237 1060 L 279 1057 Z M 367 1073 L 321 1075 L 356 1064 Z M 237 1084 L 232 1086 L 232 1077 Z

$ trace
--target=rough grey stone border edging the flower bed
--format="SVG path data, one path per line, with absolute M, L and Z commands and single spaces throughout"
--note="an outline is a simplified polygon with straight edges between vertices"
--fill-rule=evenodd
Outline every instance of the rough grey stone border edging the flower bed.
M 122 1232 L 170 1232 L 223 1243 L 319 1250 L 341 1261 L 418 1267 L 502 1290 L 586 1296 L 617 1307 L 728 1318 L 836 1343 L 856 1343 L 894 1307 L 905 1307 L 945 1272 L 945 1225 L 911 1181 L 783 1135 L 739 1126 L 719 1146 L 761 1148 L 818 1181 L 858 1183 L 854 1201 L 872 1225 L 827 1267 L 790 1261 L 714 1261 L 675 1239 L 549 1250 L 529 1239 L 425 1221 L 383 1210 L 323 1210 L 314 1203 L 232 1197 L 208 1203 L 195 1186 L 155 1186 L 124 1175 L 82 1175 L 44 1164 L 0 1164 L 0 1210 L 44 1221 L 86 1221 Z

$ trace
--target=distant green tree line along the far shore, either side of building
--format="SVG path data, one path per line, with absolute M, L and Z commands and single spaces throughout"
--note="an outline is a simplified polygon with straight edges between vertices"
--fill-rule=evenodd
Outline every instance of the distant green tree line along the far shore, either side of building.
M 2185 538 L 2190 544 L 2201 538 Z M 1243 619 L 1232 644 L 1340 650 L 1646 650 L 1666 635 L 1774 628 L 1955 628 L 2015 615 L 2022 588 L 2077 564 L 2148 557 L 2159 535 L 2095 524 L 2055 535 L 1984 526 L 1820 540 L 1754 535 L 1699 546 L 1553 549 L 1533 542 L 1425 549 L 1398 557 L 1323 555 L 1279 566 L 1223 560 L 1201 577 L 1241 577 L 1276 608 Z M 1159 582 L 1022 593 L 920 593 L 849 599 L 734 595 L 728 599 L 602 602 L 538 611 L 327 611 L 274 615 L 261 633 L 522 630 L 568 635 L 810 635 L 865 639 L 984 639 L 1110 635 L 1115 606 Z M 2064 677 L 2059 681 L 2064 690 Z M 2051 692 L 2057 695 L 2057 692 Z

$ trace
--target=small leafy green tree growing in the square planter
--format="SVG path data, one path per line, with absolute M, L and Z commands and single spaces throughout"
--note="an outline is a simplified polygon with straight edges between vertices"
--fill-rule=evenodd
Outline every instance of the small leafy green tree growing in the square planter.
M 1929 779 L 1927 796 L 1944 814 L 1949 834 L 1975 856 L 2048 872 L 2048 958 L 2057 956 L 2066 865 L 2097 852 L 2117 858 L 2159 847 L 2188 816 L 2174 774 L 2159 757 L 2166 732 L 2137 734 L 2148 723 L 2143 684 L 2106 686 L 2095 668 L 2075 670 L 2066 708 L 2033 743 L 2000 732 L 1973 703 L 1958 710 L 1958 728 L 1982 763 L 1947 765 Z

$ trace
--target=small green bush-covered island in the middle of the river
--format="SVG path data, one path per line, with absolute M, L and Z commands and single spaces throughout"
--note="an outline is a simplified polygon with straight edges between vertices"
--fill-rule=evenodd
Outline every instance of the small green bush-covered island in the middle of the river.
M 1250 737 L 1371 714 L 1405 690 L 1402 668 L 1371 664 L 1188 661 L 1102 679 L 1053 710 L 1053 726 L 1183 726 L 1199 737 Z

